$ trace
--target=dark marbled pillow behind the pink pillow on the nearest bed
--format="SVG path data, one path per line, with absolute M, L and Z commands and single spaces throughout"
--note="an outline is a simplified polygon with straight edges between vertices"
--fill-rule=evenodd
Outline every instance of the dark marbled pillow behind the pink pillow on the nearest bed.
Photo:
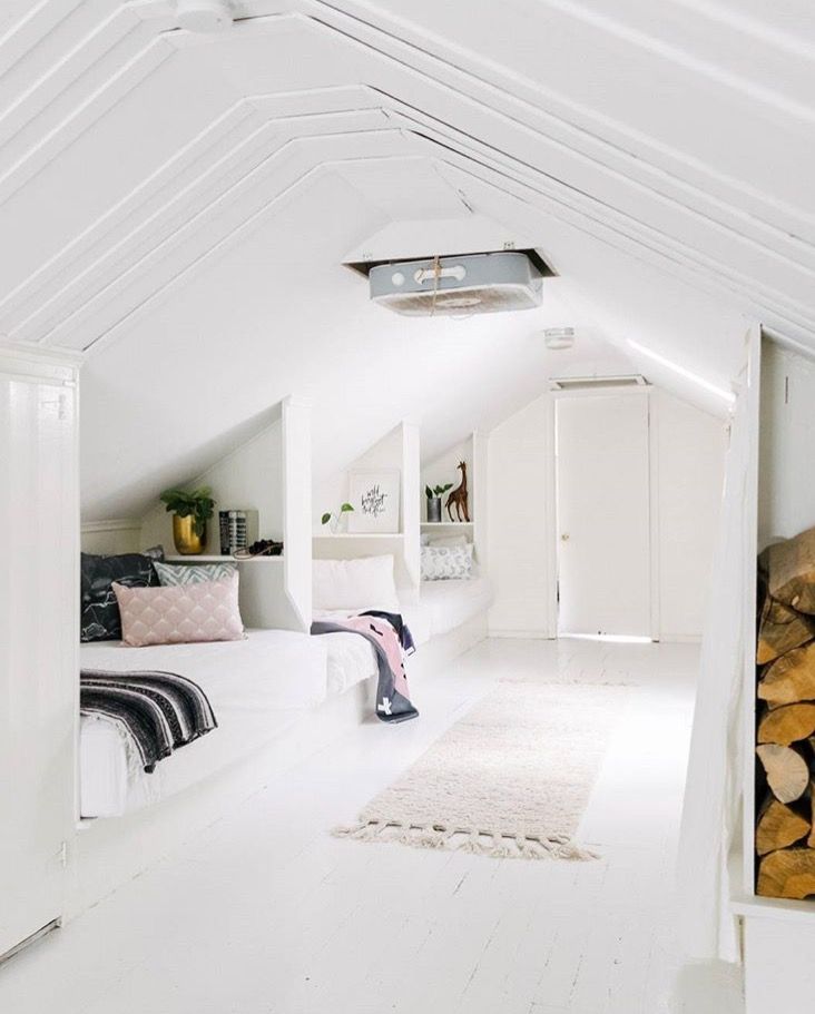
M 121 617 L 114 592 L 114 581 L 128 588 L 158 584 L 154 560 L 164 560 L 160 545 L 144 553 L 120 553 L 97 557 L 82 553 L 80 582 L 80 641 L 118 641 L 121 638 Z

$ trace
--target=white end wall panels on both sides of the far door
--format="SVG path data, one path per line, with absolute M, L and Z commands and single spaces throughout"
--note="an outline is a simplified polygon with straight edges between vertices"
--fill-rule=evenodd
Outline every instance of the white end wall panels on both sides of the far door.
M 703 617 L 718 508 L 721 420 L 651 392 L 652 505 L 657 512 L 657 629 L 664 640 L 696 639 Z M 490 577 L 495 634 L 554 637 L 552 403 L 542 395 L 490 434 Z

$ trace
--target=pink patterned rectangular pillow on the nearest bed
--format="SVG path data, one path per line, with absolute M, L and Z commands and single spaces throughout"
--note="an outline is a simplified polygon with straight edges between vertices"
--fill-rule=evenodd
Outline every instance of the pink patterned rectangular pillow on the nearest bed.
M 237 571 L 223 581 L 160 588 L 114 583 L 121 638 L 132 648 L 193 641 L 237 641 L 244 636 Z

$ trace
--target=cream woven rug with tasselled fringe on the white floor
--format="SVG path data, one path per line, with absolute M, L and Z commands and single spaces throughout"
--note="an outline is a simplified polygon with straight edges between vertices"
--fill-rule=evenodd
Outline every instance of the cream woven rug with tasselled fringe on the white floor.
M 352 827 L 334 834 L 523 859 L 589 859 L 573 840 L 622 687 L 499 683 Z

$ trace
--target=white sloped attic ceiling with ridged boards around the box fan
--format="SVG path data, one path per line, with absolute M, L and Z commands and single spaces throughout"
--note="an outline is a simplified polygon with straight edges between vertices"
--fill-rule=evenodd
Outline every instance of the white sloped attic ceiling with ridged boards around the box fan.
M 723 387 L 745 315 L 815 346 L 808 6 L 232 9 L 214 37 L 169 0 L 0 12 L 0 332 L 87 352 L 86 516 L 138 513 L 292 392 L 327 469 L 405 415 L 433 453 L 552 372 L 676 383 L 627 339 Z M 539 312 L 367 305 L 341 262 L 421 235 L 559 277 Z

